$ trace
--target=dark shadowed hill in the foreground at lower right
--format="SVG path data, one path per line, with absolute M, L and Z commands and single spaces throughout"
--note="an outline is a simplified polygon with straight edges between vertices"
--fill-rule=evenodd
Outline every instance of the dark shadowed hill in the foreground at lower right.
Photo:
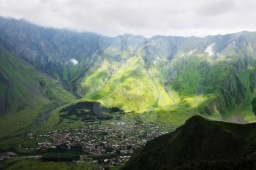
M 128 169 L 255 169 L 256 124 L 194 116 L 152 139 L 122 167 Z

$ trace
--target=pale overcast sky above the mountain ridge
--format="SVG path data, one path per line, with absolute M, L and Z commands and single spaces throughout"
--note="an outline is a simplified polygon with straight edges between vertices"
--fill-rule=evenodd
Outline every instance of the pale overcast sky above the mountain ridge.
M 256 31 L 255 0 L 0 0 L 0 15 L 108 36 Z

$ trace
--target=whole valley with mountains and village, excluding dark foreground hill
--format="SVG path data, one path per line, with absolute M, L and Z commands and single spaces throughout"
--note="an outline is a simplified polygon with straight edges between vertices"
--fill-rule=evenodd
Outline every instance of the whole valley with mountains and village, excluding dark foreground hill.
M 195 115 L 256 120 L 255 32 L 110 37 L 1 17 L 0 31 L 0 153 L 18 155 L 0 169 L 126 169 Z

